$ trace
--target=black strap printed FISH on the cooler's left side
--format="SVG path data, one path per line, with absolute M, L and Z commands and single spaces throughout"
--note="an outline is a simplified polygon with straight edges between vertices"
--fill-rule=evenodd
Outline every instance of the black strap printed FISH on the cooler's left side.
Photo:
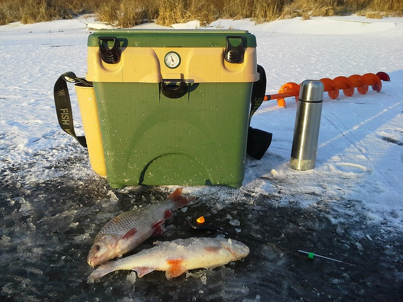
M 77 136 L 74 131 L 72 104 L 66 82 L 81 82 L 86 86 L 92 86 L 92 84 L 85 79 L 77 78 L 74 72 L 68 71 L 60 75 L 53 88 L 54 105 L 60 128 L 75 137 L 83 147 L 87 147 L 85 136 Z

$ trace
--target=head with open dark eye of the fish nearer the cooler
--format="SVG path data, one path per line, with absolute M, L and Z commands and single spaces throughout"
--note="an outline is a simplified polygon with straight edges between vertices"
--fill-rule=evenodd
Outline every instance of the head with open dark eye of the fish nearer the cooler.
M 88 264 L 96 266 L 119 256 L 119 251 L 116 250 L 118 241 L 119 238 L 115 235 L 102 235 L 96 238 L 88 253 Z

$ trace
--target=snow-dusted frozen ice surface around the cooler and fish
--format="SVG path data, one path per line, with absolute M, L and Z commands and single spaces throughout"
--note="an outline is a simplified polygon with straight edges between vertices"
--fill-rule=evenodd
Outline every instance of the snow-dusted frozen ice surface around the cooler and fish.
M 88 283 L 93 268 L 86 257 L 102 226 L 174 190 L 111 189 L 90 169 L 86 150 L 59 129 L 53 85 L 68 70 L 85 75 L 87 24 L 93 21 L 0 26 L 0 300 L 403 300 L 403 18 L 214 22 L 213 28 L 256 36 L 268 94 L 287 82 L 366 72 L 385 71 L 391 82 L 383 82 L 379 94 L 371 88 L 337 100 L 325 94 L 316 167 L 304 172 L 288 166 L 295 101 L 286 99 L 285 109 L 265 102 L 252 126 L 272 132 L 273 142 L 261 161 L 246 159 L 243 186 L 185 188 L 198 201 L 177 211 L 166 232 L 139 250 L 157 240 L 199 236 L 187 219 L 201 215 L 272 245 L 220 233 L 246 243 L 248 257 L 169 281 L 163 272 L 136 278 L 119 271 Z

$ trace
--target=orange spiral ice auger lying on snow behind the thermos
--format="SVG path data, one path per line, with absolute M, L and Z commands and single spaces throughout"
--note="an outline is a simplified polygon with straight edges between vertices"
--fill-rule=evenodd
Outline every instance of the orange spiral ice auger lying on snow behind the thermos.
M 337 77 L 333 80 L 328 78 L 320 79 L 323 83 L 323 91 L 327 92 L 330 99 L 335 100 L 339 97 L 339 90 L 343 90 L 343 93 L 347 97 L 351 97 L 354 94 L 354 88 L 357 88 L 359 94 L 366 94 L 368 87 L 371 86 L 373 91 L 380 92 L 382 89 L 382 81 L 390 82 L 389 75 L 386 72 L 379 71 L 378 73 L 365 73 L 364 75 L 353 74 L 350 77 Z M 286 107 L 285 98 L 295 97 L 295 101 L 298 102 L 298 95 L 300 90 L 300 84 L 286 83 L 284 84 L 279 93 L 273 95 L 265 95 L 263 101 L 276 100 L 277 104 L 281 107 Z

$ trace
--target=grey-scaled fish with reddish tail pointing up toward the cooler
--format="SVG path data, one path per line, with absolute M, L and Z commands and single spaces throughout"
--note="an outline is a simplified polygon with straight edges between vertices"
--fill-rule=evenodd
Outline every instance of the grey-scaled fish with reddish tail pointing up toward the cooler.
M 124 212 L 106 223 L 88 253 L 91 266 L 102 264 L 137 248 L 152 235 L 164 230 L 162 223 L 172 216 L 172 211 L 193 201 L 195 196 L 183 196 L 176 189 L 166 200 Z

